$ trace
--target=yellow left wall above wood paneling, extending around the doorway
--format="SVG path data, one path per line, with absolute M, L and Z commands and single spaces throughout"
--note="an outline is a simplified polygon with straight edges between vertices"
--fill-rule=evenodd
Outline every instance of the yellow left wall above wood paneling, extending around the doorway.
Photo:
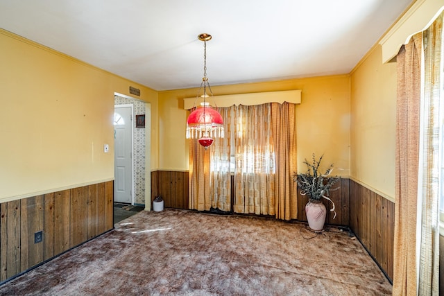
M 0 202 L 114 178 L 114 92 L 157 92 L 0 29 Z M 110 152 L 103 153 L 103 144 Z

